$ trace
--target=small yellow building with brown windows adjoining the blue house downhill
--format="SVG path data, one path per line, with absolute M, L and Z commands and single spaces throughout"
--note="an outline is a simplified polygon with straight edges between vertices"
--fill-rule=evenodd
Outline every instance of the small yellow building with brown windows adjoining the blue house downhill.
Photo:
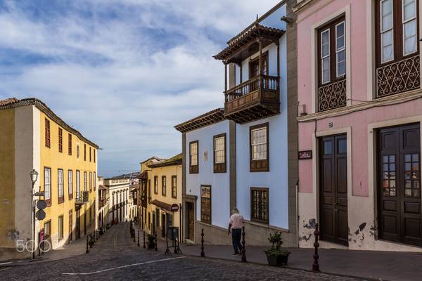
M 181 154 L 170 159 L 154 157 L 148 160 L 141 163 L 141 169 L 148 174 L 147 192 L 142 191 L 146 190 L 146 185 L 142 186 L 141 178 L 141 200 L 148 199 L 141 221 L 148 233 L 156 232 L 158 237 L 165 237 L 168 227 L 176 226 L 181 231 Z M 171 208 L 174 204 L 179 207 L 177 211 Z

